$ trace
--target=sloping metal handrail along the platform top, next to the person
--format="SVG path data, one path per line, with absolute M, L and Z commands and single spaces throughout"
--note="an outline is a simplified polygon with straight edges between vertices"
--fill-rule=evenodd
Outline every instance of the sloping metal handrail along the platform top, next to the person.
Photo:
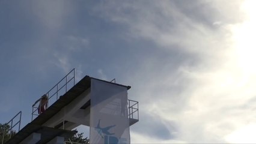
M 69 79 L 68 79 L 68 76 L 70 76 L 70 74 L 71 73 L 73 73 L 73 76 L 72 77 L 69 77 Z M 54 85 L 49 91 L 47 91 L 46 92 L 46 95 L 47 95 L 47 100 L 46 100 L 46 109 L 48 109 L 48 107 L 49 107 L 49 100 L 54 96 L 54 95 L 56 95 L 56 100 L 58 100 L 58 92 L 62 89 L 62 88 L 65 88 L 65 92 L 67 92 L 68 91 L 68 89 L 67 89 L 67 85 L 71 82 L 71 81 L 73 81 L 73 85 L 75 85 L 75 78 L 76 78 L 76 71 L 75 71 L 75 68 L 73 68 L 68 74 L 66 74 L 66 76 L 64 76 L 61 80 L 59 80 L 59 82 L 56 84 L 56 85 Z M 65 80 L 65 81 L 64 81 Z M 64 82 L 64 85 L 60 85 L 60 88 L 59 88 L 59 83 L 63 83 Z M 56 89 L 56 91 L 53 91 L 53 90 L 55 90 Z M 53 94 L 52 95 L 49 95 L 50 94 L 50 92 L 52 92 L 53 91 Z M 38 103 L 39 101 L 37 101 L 37 103 Z M 35 103 L 35 104 L 37 104 L 37 103 Z M 35 104 L 33 104 L 32 105 L 32 118 L 31 118 L 31 121 L 33 121 L 33 116 L 35 115 L 35 116 L 38 116 L 35 112 L 37 111 L 37 110 L 39 110 L 39 113 L 41 113 L 41 109 L 40 109 L 40 106 L 41 106 L 41 100 L 40 100 L 40 104 L 38 104 L 38 107 L 37 106 L 35 106 Z M 43 106 L 43 105 L 42 105 Z

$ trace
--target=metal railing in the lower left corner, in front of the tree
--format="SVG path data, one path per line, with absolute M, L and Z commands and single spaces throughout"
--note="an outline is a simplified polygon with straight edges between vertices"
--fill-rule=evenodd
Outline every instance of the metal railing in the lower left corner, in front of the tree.
M 19 116 L 19 117 L 18 117 Z M 15 115 L 9 122 L 4 124 L 4 127 L 2 128 L 2 144 L 6 142 L 8 139 L 10 139 L 12 136 L 14 136 L 17 132 L 20 131 L 20 121 L 21 121 L 22 112 L 18 112 L 17 115 Z M 17 121 L 17 122 L 16 122 Z M 14 127 L 19 124 L 19 127 L 14 130 Z

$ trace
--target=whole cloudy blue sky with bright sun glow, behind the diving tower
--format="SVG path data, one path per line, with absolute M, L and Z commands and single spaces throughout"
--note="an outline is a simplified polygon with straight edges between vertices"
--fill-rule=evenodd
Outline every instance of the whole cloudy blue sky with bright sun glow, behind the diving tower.
M 2 0 L 0 123 L 76 68 L 132 86 L 131 143 L 256 143 L 255 5 Z

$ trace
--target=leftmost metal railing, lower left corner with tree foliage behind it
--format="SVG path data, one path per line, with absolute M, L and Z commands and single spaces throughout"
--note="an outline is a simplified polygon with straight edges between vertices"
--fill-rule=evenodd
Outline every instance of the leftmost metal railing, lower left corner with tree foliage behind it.
M 18 115 L 19 115 L 19 119 L 18 119 L 19 121 L 17 121 L 17 122 L 14 124 L 14 120 L 17 118 Z M 10 139 L 10 138 L 13 136 L 13 134 L 16 133 L 16 131 L 14 131 L 13 128 L 14 128 L 17 124 L 19 124 L 19 128 L 18 128 L 17 132 L 20 131 L 21 116 L 22 116 L 22 111 L 18 112 L 17 115 L 13 116 L 13 118 L 12 118 L 9 122 L 7 122 L 6 124 L 4 124 L 4 125 L 6 125 L 7 127 L 3 128 L 3 131 L 2 131 L 2 142 L 1 142 L 2 144 L 4 143 L 5 134 L 7 135 L 7 138 Z M 8 128 L 8 125 L 10 126 L 10 128 Z M 8 137 L 8 133 L 9 133 L 9 132 L 10 132 L 10 136 Z

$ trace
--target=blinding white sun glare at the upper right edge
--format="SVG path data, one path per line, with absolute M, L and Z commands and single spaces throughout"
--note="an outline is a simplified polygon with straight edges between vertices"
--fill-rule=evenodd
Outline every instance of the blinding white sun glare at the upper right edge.
M 246 20 L 234 29 L 234 40 L 237 49 L 237 58 L 240 68 L 246 74 L 256 72 L 256 1 L 245 1 L 242 9 L 245 10 Z

